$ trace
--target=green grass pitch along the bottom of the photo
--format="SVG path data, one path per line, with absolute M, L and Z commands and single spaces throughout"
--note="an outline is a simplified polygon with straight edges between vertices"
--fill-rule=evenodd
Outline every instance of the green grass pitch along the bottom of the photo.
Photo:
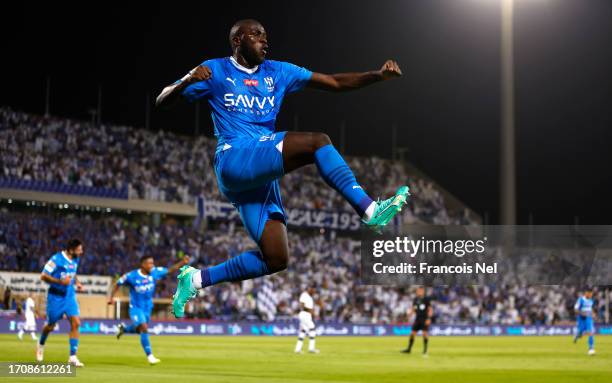
M 0 361 L 33 361 L 35 343 L 0 335 Z M 295 355 L 293 337 L 152 336 L 157 366 L 146 363 L 137 336 L 86 335 L 76 378 L 0 378 L 2 382 L 612 382 L 612 337 L 436 337 L 423 358 L 421 340 L 400 354 L 406 338 L 319 337 L 321 354 Z M 306 345 L 304 347 L 306 350 Z M 67 360 L 68 340 L 52 334 L 46 361 Z

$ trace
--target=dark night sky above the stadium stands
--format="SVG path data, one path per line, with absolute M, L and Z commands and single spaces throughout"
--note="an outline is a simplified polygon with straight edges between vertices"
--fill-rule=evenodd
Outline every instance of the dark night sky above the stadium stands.
M 407 158 L 478 213 L 498 219 L 499 0 L 27 3 L 3 14 L 0 104 L 89 119 L 103 89 L 105 122 L 143 126 L 146 95 L 207 58 L 230 54 L 241 18 L 268 31 L 270 58 L 318 72 L 404 76 L 346 94 L 289 96 L 277 129 L 323 131 L 346 152 Z M 219 6 L 221 5 L 221 6 Z M 612 2 L 516 0 L 518 220 L 611 223 Z M 8 40 L 8 41 L 7 41 Z M 212 134 L 201 107 L 200 134 Z M 195 107 L 153 111 L 151 129 L 193 134 Z M 211 169 L 212 171 L 212 169 Z

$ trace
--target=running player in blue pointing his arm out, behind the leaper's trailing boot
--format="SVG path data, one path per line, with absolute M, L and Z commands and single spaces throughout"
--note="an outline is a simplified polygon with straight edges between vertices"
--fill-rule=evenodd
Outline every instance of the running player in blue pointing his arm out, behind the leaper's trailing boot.
M 155 267 L 155 262 L 151 255 L 143 255 L 140 257 L 140 267 L 125 273 L 117 280 L 115 287 L 111 293 L 109 304 L 114 301 L 115 294 L 120 286 L 129 286 L 130 288 L 130 319 L 132 323 L 129 326 L 123 323 L 119 324 L 117 339 L 123 334 L 140 334 L 140 344 L 147 355 L 147 360 L 150 364 L 161 362 L 151 351 L 151 342 L 149 341 L 148 323 L 151 319 L 151 311 L 153 310 L 153 296 L 155 295 L 155 285 L 158 280 L 164 278 L 168 273 L 177 271 L 181 266 L 189 263 L 189 257 L 184 256 L 180 262 L 175 265 L 166 267 Z

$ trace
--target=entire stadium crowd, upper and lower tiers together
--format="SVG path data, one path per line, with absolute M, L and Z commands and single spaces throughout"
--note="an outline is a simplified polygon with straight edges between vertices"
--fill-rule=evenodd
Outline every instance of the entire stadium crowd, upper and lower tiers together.
M 129 190 L 128 198 L 193 204 L 198 196 L 224 200 L 212 169 L 216 141 L 127 126 L 94 125 L 0 108 L 0 180 L 27 180 Z M 69 154 L 69 155 L 67 155 Z M 405 182 L 411 187 L 404 222 L 468 225 L 468 209 L 449 209 L 444 192 L 404 163 L 376 157 L 348 157 L 357 179 L 374 197 L 384 198 Z M 321 180 L 314 166 L 285 176 L 288 208 L 350 210 Z M 0 270 L 40 272 L 70 237 L 85 243 L 79 273 L 119 275 L 136 268 L 144 254 L 169 266 L 185 254 L 195 267 L 222 262 L 255 244 L 233 221 L 203 228 L 190 220 L 165 217 L 153 224 L 144 214 L 89 214 L 0 208 Z M 359 282 L 360 242 L 354 234 L 291 228 L 288 270 L 267 277 L 275 294 L 277 319 L 298 311 L 307 286 L 316 290 L 316 317 L 330 322 L 404 322 L 414 291 L 365 286 Z M 158 286 L 169 297 L 174 278 Z M 257 294 L 264 279 L 227 283 L 206 290 L 187 307 L 191 317 L 257 319 Z M 520 285 L 439 287 L 434 299 L 440 324 L 555 324 L 574 318 L 579 291 L 568 287 Z M 596 292 L 603 315 L 604 291 Z

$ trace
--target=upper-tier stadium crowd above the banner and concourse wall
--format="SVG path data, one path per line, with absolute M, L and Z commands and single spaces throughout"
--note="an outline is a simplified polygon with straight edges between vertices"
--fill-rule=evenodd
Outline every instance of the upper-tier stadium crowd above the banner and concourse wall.
M 118 125 L 94 125 L 38 116 L 0 107 L 0 180 L 20 179 L 66 185 L 127 188 L 130 198 L 191 204 L 195 198 L 224 200 L 212 162 L 216 140 Z M 70 153 L 70 155 L 66 155 Z M 404 165 L 376 157 L 348 157 L 365 190 L 374 198 L 393 195 L 408 182 L 408 222 L 468 224 L 467 210 L 449 211 L 435 185 L 410 177 Z M 325 185 L 314 166 L 282 179 L 289 208 L 351 210 Z

